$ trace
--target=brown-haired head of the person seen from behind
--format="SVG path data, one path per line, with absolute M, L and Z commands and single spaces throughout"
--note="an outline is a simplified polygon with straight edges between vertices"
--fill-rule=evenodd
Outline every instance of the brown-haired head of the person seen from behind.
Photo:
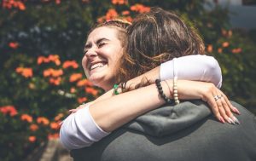
M 126 81 L 166 60 L 184 55 L 203 55 L 204 43 L 195 29 L 172 12 L 152 8 L 139 14 L 127 31 L 127 45 L 119 81 Z M 131 72 L 132 71 L 132 72 Z

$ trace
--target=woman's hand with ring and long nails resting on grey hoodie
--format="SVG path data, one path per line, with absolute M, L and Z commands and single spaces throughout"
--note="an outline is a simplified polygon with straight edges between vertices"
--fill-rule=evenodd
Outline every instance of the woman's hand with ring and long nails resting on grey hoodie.
M 182 81 L 178 81 L 177 84 L 179 84 L 179 82 L 183 83 Z M 181 90 L 179 87 L 181 87 Z M 215 87 L 213 83 L 189 81 L 189 83 L 178 85 L 178 90 L 185 99 L 188 99 L 188 97 L 189 99 L 195 99 L 197 95 L 201 100 L 206 101 L 209 106 L 211 106 L 215 117 L 218 118 L 221 123 L 240 124 L 232 113 L 240 114 L 240 112 L 235 106 L 231 105 L 227 96 L 224 95 L 220 89 Z

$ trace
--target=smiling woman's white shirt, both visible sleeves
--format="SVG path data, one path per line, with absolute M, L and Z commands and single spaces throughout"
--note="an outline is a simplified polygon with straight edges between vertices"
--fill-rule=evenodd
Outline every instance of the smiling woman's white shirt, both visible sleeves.
M 207 55 L 188 55 L 169 60 L 160 66 L 160 79 L 197 80 L 212 82 L 218 88 L 222 84 L 218 61 Z M 69 115 L 61 125 L 60 140 L 67 149 L 90 147 L 109 133 L 103 131 L 89 112 L 89 105 Z

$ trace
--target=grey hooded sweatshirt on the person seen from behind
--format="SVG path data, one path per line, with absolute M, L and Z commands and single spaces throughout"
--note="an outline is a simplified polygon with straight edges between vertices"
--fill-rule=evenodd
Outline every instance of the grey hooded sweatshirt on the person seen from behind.
M 203 101 L 162 106 L 116 129 L 74 161 L 256 161 L 256 118 L 232 102 L 241 124 L 221 124 Z

